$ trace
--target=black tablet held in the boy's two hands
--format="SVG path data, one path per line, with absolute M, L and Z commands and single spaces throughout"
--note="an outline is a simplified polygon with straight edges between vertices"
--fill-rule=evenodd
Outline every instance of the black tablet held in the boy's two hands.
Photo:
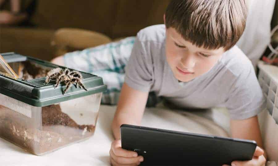
M 122 148 L 144 157 L 141 165 L 223 165 L 251 160 L 257 143 L 122 124 Z

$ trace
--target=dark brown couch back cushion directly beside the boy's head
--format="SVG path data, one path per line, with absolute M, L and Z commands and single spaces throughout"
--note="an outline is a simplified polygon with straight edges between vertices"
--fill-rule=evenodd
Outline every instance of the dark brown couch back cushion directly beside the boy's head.
M 147 26 L 163 24 L 163 14 L 171 0 L 118 0 L 111 38 L 135 36 Z

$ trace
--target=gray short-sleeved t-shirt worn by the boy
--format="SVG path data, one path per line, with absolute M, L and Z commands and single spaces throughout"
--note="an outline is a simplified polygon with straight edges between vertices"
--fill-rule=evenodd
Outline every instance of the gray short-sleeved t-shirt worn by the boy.
M 179 82 L 166 61 L 165 25 L 138 32 L 125 72 L 128 86 L 154 91 L 178 107 L 226 107 L 234 120 L 253 117 L 265 107 L 252 63 L 236 45 L 207 73 Z

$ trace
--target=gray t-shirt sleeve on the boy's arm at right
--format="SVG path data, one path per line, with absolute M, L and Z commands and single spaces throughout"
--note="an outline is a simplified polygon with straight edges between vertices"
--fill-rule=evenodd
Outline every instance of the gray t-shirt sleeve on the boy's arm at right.
M 230 118 L 243 120 L 254 117 L 265 109 L 265 98 L 253 67 L 240 74 L 230 89 L 225 102 Z

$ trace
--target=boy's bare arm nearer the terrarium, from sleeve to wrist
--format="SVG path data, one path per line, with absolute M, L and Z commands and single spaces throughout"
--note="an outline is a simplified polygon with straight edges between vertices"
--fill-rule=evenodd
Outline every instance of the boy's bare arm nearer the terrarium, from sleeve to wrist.
M 112 122 L 112 131 L 116 140 L 120 139 L 122 124 L 141 124 L 148 95 L 148 92 L 141 92 L 129 87 L 126 83 L 123 84 Z

